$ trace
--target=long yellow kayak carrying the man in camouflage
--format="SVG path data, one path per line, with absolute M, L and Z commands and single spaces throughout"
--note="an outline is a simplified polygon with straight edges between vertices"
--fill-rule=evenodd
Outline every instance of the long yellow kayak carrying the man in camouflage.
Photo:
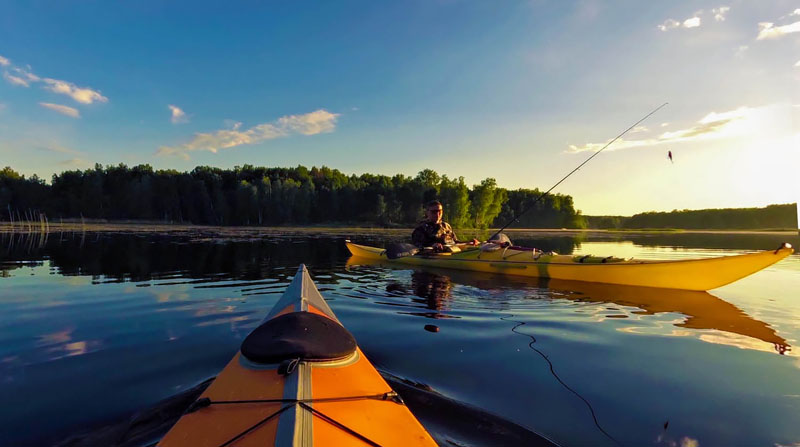
M 429 253 L 389 259 L 386 250 L 345 241 L 353 256 L 387 262 L 539 278 L 627 286 L 706 291 L 762 270 L 794 252 L 777 250 L 706 259 L 652 261 L 543 253 L 523 247 L 484 244 L 457 253 Z

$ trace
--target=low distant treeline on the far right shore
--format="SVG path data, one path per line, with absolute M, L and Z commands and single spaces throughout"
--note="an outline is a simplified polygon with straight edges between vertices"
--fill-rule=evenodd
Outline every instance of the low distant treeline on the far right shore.
M 685 228 L 749 230 L 797 228 L 797 204 L 764 208 L 674 210 L 623 216 L 586 216 L 589 228 Z

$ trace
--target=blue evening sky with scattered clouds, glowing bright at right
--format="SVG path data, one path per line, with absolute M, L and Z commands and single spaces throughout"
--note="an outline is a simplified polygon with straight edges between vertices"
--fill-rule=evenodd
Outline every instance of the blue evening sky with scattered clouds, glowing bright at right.
M 800 1 L 0 2 L 0 166 L 433 169 L 589 215 L 800 197 Z M 673 155 L 672 161 L 668 153 Z

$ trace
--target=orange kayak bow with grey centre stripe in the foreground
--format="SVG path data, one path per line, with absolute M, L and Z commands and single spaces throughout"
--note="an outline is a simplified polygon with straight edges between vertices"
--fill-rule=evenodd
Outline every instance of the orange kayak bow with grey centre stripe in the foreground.
M 300 266 L 266 319 L 158 445 L 436 443 Z

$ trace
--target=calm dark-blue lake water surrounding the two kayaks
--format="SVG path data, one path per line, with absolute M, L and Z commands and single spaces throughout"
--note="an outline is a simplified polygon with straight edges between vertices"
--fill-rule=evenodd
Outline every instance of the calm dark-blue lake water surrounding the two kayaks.
M 800 245 L 510 235 L 639 258 Z M 378 368 L 565 446 L 800 443 L 798 255 L 708 294 L 358 265 L 345 236 L 398 237 L 0 234 L 0 445 L 52 444 L 215 375 L 301 262 Z

